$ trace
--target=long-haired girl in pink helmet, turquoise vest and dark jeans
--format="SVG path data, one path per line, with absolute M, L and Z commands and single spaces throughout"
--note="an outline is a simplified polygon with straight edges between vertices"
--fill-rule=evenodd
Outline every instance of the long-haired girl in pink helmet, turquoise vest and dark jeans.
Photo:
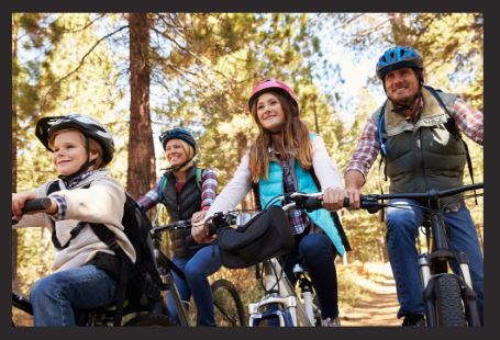
M 263 207 L 284 192 L 322 190 L 324 206 L 330 211 L 341 208 L 337 202 L 344 196 L 342 177 L 323 139 L 310 134 L 300 120 L 293 91 L 279 80 L 264 80 L 253 90 L 248 106 L 259 134 L 204 220 L 215 212 L 234 208 L 253 185 L 258 186 L 257 201 Z M 314 183 L 314 177 L 321 189 Z M 326 209 L 287 214 L 296 238 L 296 247 L 285 264 L 287 276 L 295 283 L 292 268 L 302 261 L 318 292 L 322 325 L 340 326 L 334 259 L 336 254 L 342 256 L 345 248 L 337 226 Z M 199 242 L 208 239 L 202 227 L 195 227 L 191 233 Z

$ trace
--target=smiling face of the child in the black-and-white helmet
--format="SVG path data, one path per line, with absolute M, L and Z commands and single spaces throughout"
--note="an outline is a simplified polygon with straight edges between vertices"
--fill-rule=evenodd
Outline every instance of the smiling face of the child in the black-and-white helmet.
M 81 134 L 77 131 L 65 131 L 56 135 L 52 147 L 54 165 L 57 172 L 63 175 L 70 175 L 77 172 L 87 161 L 87 149 Z M 98 157 L 91 152 L 90 160 Z

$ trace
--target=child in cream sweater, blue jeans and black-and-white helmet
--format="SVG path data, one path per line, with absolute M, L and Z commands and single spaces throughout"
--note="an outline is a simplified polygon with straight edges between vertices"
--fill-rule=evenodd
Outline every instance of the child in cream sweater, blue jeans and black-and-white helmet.
M 104 167 L 114 154 L 111 134 L 99 122 L 80 114 L 44 117 L 36 137 L 53 152 L 59 179 L 22 193 L 12 193 L 15 227 L 47 226 L 56 256 L 53 274 L 34 283 L 30 292 L 35 326 L 75 326 L 75 311 L 115 301 L 116 280 L 97 263 L 114 256 L 93 233 L 88 220 L 113 231 L 119 246 L 135 261 L 135 250 L 123 233 L 125 191 Z M 45 197 L 52 183 L 52 206 L 23 215 L 27 200 Z M 100 259 L 100 260 L 98 260 Z

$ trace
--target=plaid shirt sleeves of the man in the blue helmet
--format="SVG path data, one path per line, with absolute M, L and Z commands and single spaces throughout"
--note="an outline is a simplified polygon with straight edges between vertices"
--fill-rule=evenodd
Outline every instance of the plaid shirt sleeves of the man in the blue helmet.
M 458 128 L 470 139 L 482 145 L 484 123 L 482 112 L 473 109 L 463 99 L 457 98 L 453 104 L 449 114 L 455 120 Z M 357 143 L 356 150 L 345 168 L 344 174 L 348 171 L 359 171 L 365 178 L 369 169 L 377 159 L 380 151 L 380 141 L 378 140 L 378 128 L 371 116 L 363 129 L 362 137 Z

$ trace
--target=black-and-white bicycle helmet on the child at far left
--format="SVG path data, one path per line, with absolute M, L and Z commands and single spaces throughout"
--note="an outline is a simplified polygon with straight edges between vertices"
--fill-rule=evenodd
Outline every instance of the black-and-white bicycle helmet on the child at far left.
M 47 150 L 53 152 L 48 140 L 53 134 L 63 128 L 75 128 L 86 137 L 95 139 L 102 147 L 102 162 L 108 165 L 114 155 L 114 141 L 111 133 L 95 118 L 81 115 L 69 114 L 65 116 L 48 116 L 38 120 L 36 123 L 35 135 Z

